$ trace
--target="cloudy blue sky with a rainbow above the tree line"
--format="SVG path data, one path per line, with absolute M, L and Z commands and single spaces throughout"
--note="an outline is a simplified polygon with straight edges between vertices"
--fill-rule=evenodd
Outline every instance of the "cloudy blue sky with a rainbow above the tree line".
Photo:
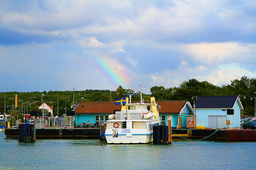
M 255 0 L 0 1 L 0 91 L 256 78 Z

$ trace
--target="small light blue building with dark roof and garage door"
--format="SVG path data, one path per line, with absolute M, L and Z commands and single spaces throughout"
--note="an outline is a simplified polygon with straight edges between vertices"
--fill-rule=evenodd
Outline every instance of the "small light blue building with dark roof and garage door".
M 196 125 L 208 129 L 240 129 L 240 111 L 243 109 L 238 96 L 199 96 L 194 103 Z M 227 121 L 228 120 L 228 121 Z

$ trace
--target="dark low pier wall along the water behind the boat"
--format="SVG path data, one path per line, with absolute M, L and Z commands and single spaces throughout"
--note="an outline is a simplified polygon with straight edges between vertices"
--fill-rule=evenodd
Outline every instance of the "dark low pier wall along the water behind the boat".
M 100 128 L 36 129 L 36 138 L 100 138 Z M 256 141 L 256 130 L 172 129 L 172 138 Z M 214 133 L 215 132 L 215 133 Z M 212 135 L 211 135 L 212 134 Z M 5 129 L 6 137 L 18 137 L 18 129 Z M 211 135 L 211 136 L 209 136 Z M 208 137 L 209 136 L 209 137 Z

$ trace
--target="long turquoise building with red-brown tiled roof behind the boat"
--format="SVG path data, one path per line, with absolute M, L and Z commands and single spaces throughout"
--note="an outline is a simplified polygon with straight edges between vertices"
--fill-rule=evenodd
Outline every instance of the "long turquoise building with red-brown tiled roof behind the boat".
M 132 103 L 137 101 L 132 101 Z M 144 102 L 150 103 L 150 102 Z M 173 128 L 186 128 L 186 118 L 193 117 L 193 109 L 188 101 L 156 101 L 159 109 L 161 122 L 167 124 L 172 120 Z M 114 101 L 80 102 L 74 109 L 75 123 L 95 123 L 96 121 L 108 120 L 108 115 L 121 111 L 121 105 L 115 105 Z

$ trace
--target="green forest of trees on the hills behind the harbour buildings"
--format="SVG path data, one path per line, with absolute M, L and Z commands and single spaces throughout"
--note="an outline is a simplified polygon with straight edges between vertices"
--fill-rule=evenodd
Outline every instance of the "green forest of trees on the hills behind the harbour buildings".
M 171 86 L 171 85 L 170 85 Z M 153 86 L 150 88 L 151 94 L 143 94 L 143 99 L 150 100 L 154 96 L 156 100 L 187 100 L 193 105 L 198 96 L 233 96 L 240 97 L 244 107 L 244 115 L 254 115 L 255 112 L 255 92 L 256 92 L 256 79 L 247 78 L 246 76 L 240 79 L 231 80 L 230 85 L 215 86 L 207 81 L 198 81 L 196 79 L 189 79 L 183 81 L 178 87 L 164 87 Z M 114 101 L 118 98 L 124 97 L 124 94 L 134 93 L 132 89 L 119 89 L 118 95 L 115 91 L 110 90 L 82 90 L 82 91 L 43 91 L 43 92 L 0 92 L 0 113 L 10 113 L 13 110 L 19 113 L 30 113 L 30 111 L 38 111 L 42 101 L 46 104 L 53 106 L 53 112 L 57 115 L 57 101 L 59 101 L 59 116 L 65 113 L 66 110 L 71 111 L 71 103 L 73 101 L 78 104 L 80 101 Z M 17 108 L 15 108 L 15 95 L 17 94 Z M 44 96 L 42 96 L 44 94 Z M 133 96 L 133 101 L 140 101 L 138 95 Z M 110 97 L 111 96 L 111 97 Z M 193 99 L 192 99 L 193 97 Z M 251 98 L 252 97 L 252 98 Z M 4 104 L 4 102 L 6 102 Z M 100 102 L 100 101 L 99 101 Z M 4 106 L 5 109 L 4 109 Z

